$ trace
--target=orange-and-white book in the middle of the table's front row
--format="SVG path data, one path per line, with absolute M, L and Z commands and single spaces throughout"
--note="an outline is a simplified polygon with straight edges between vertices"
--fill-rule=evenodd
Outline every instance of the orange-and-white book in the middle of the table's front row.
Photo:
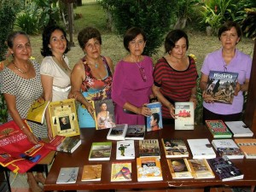
M 137 181 L 162 181 L 162 170 L 158 157 L 137 158 Z

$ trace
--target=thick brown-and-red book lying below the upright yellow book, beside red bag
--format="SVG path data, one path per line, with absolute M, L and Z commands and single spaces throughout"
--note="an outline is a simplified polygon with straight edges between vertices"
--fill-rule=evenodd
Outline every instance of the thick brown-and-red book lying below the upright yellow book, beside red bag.
M 55 136 L 49 144 L 55 147 L 56 151 L 66 152 L 72 154 L 79 146 L 82 141 L 79 137 L 65 137 L 65 136 Z

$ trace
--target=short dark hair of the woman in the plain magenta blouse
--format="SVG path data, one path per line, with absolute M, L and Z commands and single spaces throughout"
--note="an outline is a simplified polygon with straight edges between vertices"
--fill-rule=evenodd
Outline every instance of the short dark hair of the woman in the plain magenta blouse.
M 125 46 L 125 49 L 130 51 L 129 50 L 129 43 L 137 37 L 137 35 L 139 34 L 142 34 L 143 36 L 143 40 L 144 41 L 147 41 L 147 38 L 146 38 L 146 34 L 145 32 L 143 32 L 143 29 L 139 28 L 139 27 L 131 27 L 130 29 L 128 29 L 126 32 L 125 32 L 125 35 L 124 35 L 124 46 Z

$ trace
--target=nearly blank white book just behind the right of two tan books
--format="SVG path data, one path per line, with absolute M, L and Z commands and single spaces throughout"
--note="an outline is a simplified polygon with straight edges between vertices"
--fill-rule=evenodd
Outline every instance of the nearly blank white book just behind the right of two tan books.
M 193 159 L 211 159 L 216 157 L 212 145 L 207 138 L 188 139 L 187 141 Z

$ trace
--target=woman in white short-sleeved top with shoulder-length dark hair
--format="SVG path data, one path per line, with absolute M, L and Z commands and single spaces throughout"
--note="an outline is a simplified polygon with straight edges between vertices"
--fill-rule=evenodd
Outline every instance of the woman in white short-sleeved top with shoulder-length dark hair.
M 65 55 L 69 50 L 67 45 L 67 33 L 60 26 L 49 26 L 44 29 L 41 50 L 44 60 L 40 67 L 40 74 L 46 101 L 56 102 L 67 99 L 71 88 L 71 69 Z M 45 118 L 48 125 L 48 137 L 51 139 L 52 131 L 48 111 L 46 111 Z

